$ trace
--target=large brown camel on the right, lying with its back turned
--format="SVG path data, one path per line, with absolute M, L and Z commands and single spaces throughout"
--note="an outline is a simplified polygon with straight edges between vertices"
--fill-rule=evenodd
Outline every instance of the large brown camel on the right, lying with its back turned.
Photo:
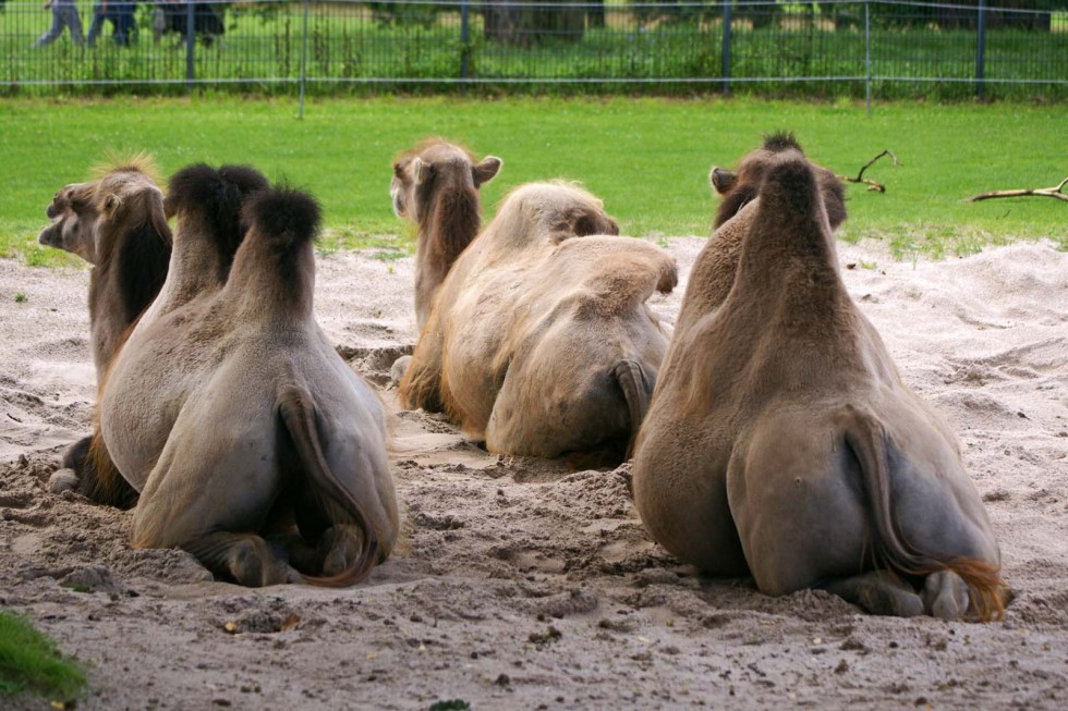
M 672 554 L 767 594 L 999 614 L 998 547 L 956 438 L 838 273 L 840 188 L 828 199 L 786 137 L 749 160 L 755 199 L 728 208 L 692 272 L 638 438 L 642 520 Z

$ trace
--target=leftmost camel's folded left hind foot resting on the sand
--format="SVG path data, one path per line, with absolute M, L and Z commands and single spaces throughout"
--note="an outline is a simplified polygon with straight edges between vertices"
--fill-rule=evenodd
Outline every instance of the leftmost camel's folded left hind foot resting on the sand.
M 296 571 L 271 551 L 266 540 L 253 534 L 215 531 L 187 541 L 181 548 L 216 575 L 230 577 L 246 587 L 301 579 Z

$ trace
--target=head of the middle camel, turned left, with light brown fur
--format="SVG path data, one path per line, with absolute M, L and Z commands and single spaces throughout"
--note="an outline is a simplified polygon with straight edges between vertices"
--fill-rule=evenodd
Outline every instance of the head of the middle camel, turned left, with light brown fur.
M 432 219 L 435 199 L 448 195 L 473 198 L 477 210 L 478 188 L 494 179 L 501 164 L 495 156 L 476 163 L 474 154 L 466 148 L 428 138 L 393 162 L 393 179 L 389 183 L 393 212 L 399 218 L 423 223 Z

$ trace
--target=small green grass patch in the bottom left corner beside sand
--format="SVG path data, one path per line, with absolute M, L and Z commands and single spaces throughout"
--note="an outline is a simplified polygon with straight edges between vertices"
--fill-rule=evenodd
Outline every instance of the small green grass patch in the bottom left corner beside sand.
M 0 706 L 5 698 L 33 692 L 60 703 L 85 686 L 85 673 L 62 657 L 56 642 L 28 620 L 0 611 Z

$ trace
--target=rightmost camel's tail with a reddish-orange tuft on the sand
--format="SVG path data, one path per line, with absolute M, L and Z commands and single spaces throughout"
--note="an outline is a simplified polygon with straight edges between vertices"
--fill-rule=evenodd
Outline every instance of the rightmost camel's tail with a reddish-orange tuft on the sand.
M 914 576 L 950 571 L 968 585 L 975 617 L 983 622 L 1000 620 L 1008 599 L 1008 587 L 999 575 L 1000 567 L 968 556 L 936 560 L 910 545 L 890 510 L 886 432 L 871 415 L 854 412 L 850 419 L 846 429 L 846 444 L 860 463 L 861 480 L 872 513 L 877 564 L 885 564 L 899 574 Z

